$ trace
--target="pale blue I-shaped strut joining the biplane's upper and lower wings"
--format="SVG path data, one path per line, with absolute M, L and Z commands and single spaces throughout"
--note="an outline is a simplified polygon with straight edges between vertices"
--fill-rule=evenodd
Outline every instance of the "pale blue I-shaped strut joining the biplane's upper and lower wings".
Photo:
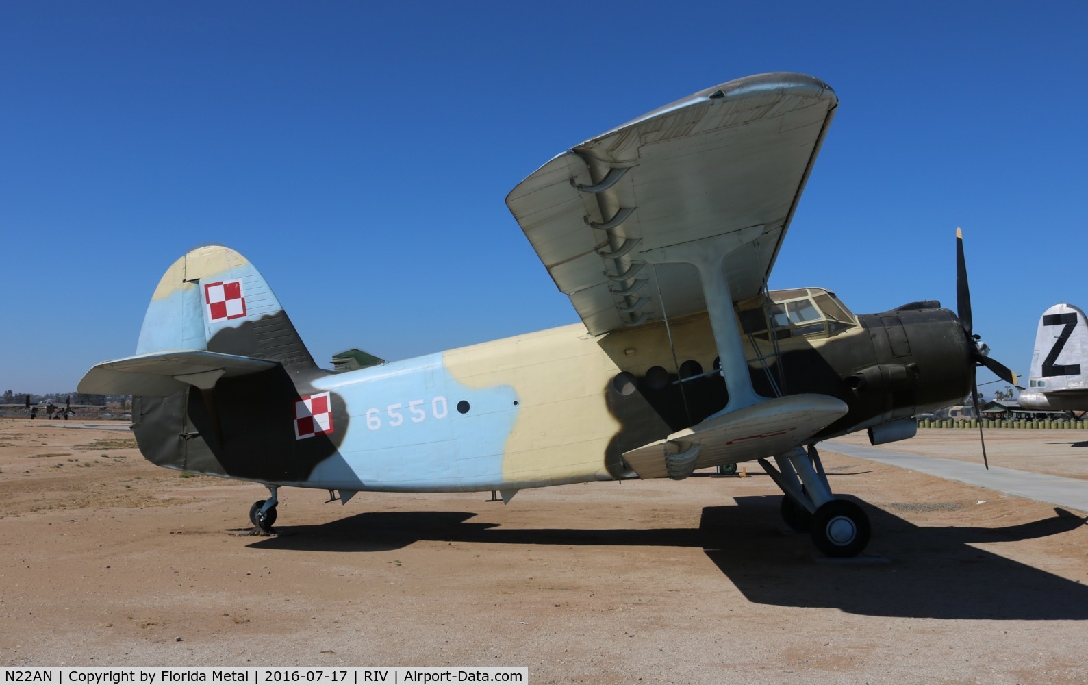
M 706 311 L 714 329 L 714 342 L 721 360 L 721 375 L 726 379 L 729 402 L 714 416 L 721 416 L 742 407 L 763 402 L 756 394 L 749 375 L 740 327 L 733 315 L 733 298 L 729 292 L 729 281 L 721 270 L 722 261 L 730 253 L 755 241 L 763 234 L 764 227 L 754 225 L 680 245 L 658 247 L 642 253 L 652 264 L 688 264 L 698 271 L 703 285 Z M 714 418 L 707 417 L 706 420 Z

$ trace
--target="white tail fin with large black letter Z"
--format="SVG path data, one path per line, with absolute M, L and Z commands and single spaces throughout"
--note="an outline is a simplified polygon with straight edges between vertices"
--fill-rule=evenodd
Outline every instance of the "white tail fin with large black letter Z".
M 1042 314 L 1028 386 L 1033 393 L 1088 390 L 1088 320 L 1080 308 L 1058 304 Z

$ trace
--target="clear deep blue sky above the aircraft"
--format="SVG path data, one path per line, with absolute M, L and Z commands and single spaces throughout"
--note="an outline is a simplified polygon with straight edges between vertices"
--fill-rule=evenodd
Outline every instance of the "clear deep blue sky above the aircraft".
M 507 192 L 770 71 L 841 100 L 771 288 L 954 308 L 963 227 L 975 330 L 1025 374 L 1043 309 L 1088 306 L 1083 8 L 0 3 L 0 391 L 133 354 L 162 272 L 208 243 L 260 269 L 322 364 L 574 322 Z

